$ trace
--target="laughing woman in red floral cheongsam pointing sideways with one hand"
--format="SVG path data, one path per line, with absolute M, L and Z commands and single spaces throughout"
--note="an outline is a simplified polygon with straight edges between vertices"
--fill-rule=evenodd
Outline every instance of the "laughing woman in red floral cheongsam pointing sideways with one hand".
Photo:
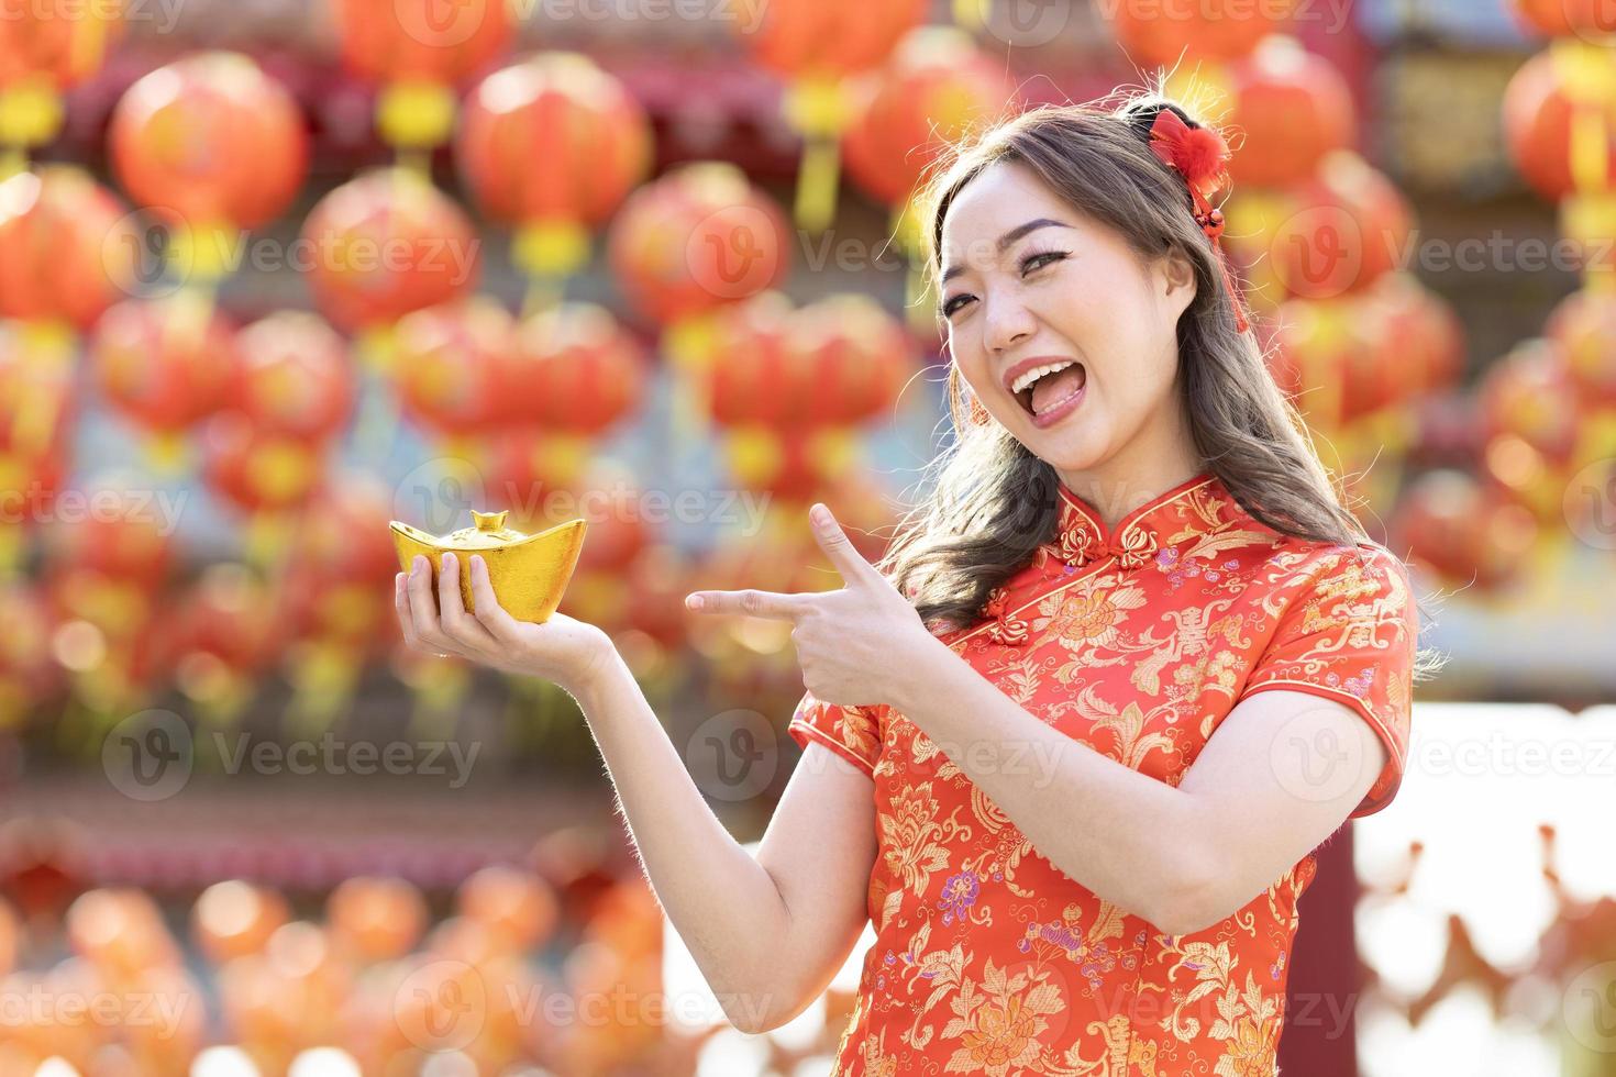
M 776 617 L 805 756 L 756 859 L 609 641 L 477 615 L 422 560 L 412 644 L 580 701 L 650 882 L 747 1032 L 874 922 L 837 1074 L 1272 1074 L 1311 856 L 1393 796 L 1417 612 L 1267 373 L 1176 105 L 1046 108 L 937 174 L 955 442 L 879 567 L 696 593 Z

